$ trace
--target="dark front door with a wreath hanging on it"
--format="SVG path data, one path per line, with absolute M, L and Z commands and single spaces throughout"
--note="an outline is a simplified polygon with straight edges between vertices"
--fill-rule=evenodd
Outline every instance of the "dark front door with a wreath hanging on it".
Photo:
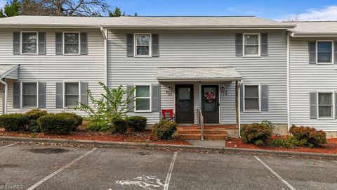
M 201 113 L 205 123 L 219 123 L 219 86 L 201 86 Z

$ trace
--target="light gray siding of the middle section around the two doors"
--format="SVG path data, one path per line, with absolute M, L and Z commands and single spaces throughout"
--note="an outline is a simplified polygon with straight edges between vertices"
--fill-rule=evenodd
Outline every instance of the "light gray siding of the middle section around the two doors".
M 159 34 L 159 57 L 126 56 L 126 34 Z M 268 56 L 235 56 L 235 33 L 268 33 Z M 219 67 L 232 66 L 243 76 L 244 84 L 269 84 L 269 111 L 260 113 L 242 112 L 243 124 L 271 120 L 277 124 L 286 123 L 286 31 L 191 31 L 159 30 L 131 31 L 110 30 L 108 34 L 108 83 L 158 84 L 158 67 Z M 169 82 L 171 85 L 175 82 Z M 193 84 L 191 82 L 184 82 Z M 214 84 L 214 82 L 211 82 Z M 174 87 L 172 85 L 172 87 Z M 220 122 L 235 123 L 234 82 L 225 84 L 228 94 L 220 98 Z M 194 84 L 194 101 L 199 91 Z M 166 97 L 166 87 L 161 86 L 162 108 L 174 108 L 174 94 Z M 196 94 L 197 93 L 197 94 Z M 194 102 L 194 107 L 196 106 Z M 143 115 L 149 123 L 159 120 L 159 113 L 132 113 Z

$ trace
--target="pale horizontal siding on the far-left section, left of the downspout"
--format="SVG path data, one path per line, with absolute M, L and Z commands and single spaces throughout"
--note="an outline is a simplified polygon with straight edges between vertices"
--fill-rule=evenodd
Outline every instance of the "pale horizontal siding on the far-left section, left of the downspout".
M 13 32 L 46 32 L 46 55 L 13 55 Z M 88 55 L 55 55 L 55 32 L 88 32 Z M 94 96 L 99 96 L 98 82 L 104 82 L 104 41 L 100 30 L 0 29 L 0 63 L 20 64 L 19 81 L 46 82 L 46 108 L 49 112 L 70 111 L 55 108 L 56 82 L 88 82 Z M 8 80 L 8 113 L 23 113 L 29 108 L 13 108 L 13 82 Z M 82 112 L 77 112 L 83 114 Z

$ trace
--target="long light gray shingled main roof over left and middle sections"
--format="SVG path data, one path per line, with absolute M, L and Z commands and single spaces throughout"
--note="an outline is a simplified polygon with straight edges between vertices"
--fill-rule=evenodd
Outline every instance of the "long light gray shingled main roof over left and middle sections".
M 282 23 L 254 16 L 173 16 L 173 17 L 62 17 L 20 15 L 0 18 L 0 27 L 109 27 L 159 29 L 251 29 L 292 28 Z

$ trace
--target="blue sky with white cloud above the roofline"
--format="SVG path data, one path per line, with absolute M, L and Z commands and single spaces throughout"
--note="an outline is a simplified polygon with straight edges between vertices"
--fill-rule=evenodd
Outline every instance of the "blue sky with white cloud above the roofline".
M 0 0 L 0 7 L 7 0 Z M 299 20 L 337 20 L 337 0 L 107 0 L 128 14 L 149 16 L 256 15 L 285 20 L 298 14 Z

